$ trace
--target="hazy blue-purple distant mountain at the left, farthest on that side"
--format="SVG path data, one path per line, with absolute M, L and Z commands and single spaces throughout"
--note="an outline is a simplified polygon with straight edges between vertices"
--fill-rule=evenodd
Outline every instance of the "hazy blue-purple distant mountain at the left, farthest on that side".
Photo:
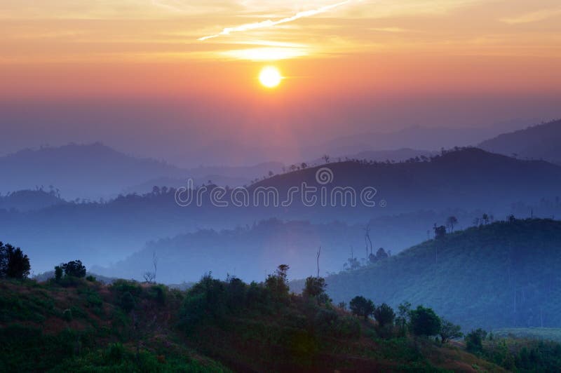
M 99 142 L 62 147 L 25 149 L 0 157 L 0 193 L 24 189 L 58 189 L 66 199 L 112 198 L 126 192 L 151 191 L 152 186 L 185 184 L 192 177 L 198 184 L 243 185 L 255 177 L 279 172 L 280 163 L 248 167 L 178 168 L 151 158 L 135 158 Z M 170 182 L 173 185 L 156 184 Z M 150 185 L 151 184 L 151 185 Z

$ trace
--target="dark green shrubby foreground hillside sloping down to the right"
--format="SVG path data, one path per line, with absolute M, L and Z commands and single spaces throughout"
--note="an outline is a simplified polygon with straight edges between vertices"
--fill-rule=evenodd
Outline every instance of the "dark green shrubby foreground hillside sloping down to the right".
M 1 372 L 500 372 L 464 351 L 359 319 L 269 276 L 188 292 L 90 278 L 0 281 Z M 324 299 L 325 301 L 325 299 Z

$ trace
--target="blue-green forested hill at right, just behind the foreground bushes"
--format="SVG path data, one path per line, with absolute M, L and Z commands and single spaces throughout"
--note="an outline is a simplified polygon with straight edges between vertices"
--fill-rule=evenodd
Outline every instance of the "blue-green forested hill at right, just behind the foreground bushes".
M 335 301 L 363 294 L 430 304 L 464 328 L 561 326 L 561 222 L 495 222 L 428 240 L 327 278 Z

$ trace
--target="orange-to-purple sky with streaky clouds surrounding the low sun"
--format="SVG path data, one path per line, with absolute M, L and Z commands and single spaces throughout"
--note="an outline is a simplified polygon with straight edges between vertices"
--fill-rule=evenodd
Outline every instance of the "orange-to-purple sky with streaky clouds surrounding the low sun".
M 558 0 L 0 0 L 0 34 L 1 154 L 102 141 L 282 158 L 351 133 L 561 116 Z

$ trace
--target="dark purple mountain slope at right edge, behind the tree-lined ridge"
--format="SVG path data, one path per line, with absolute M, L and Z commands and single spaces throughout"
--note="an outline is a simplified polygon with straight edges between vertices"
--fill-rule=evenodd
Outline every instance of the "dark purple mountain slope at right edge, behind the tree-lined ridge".
M 542 123 L 481 142 L 478 147 L 494 153 L 561 164 L 561 119 Z

